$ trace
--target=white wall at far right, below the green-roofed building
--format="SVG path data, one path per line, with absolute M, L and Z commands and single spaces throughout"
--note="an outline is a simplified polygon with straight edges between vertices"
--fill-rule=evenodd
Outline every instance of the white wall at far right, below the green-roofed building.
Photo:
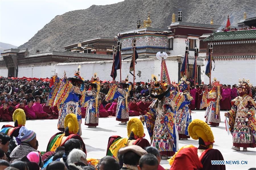
M 205 61 L 205 65 L 207 60 Z M 214 63 L 212 62 L 214 67 Z M 203 74 L 205 75 L 205 68 Z M 212 70 L 211 81 L 216 77 L 221 84 L 238 84 L 239 78 L 250 79 L 250 83 L 256 86 L 256 59 L 229 59 L 215 60 L 215 69 Z M 205 75 L 205 84 L 209 83 L 209 78 Z

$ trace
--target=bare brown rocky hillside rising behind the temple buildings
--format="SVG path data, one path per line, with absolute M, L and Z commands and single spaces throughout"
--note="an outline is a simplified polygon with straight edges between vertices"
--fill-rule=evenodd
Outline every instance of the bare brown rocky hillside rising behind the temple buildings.
M 176 14 L 179 6 L 182 9 L 182 21 L 226 25 L 227 14 L 230 22 L 237 26 L 237 22 L 247 13 L 247 18 L 256 16 L 255 0 L 125 0 L 112 5 L 92 5 L 88 9 L 70 11 L 55 16 L 39 30 L 28 42 L 18 48 L 34 50 L 63 51 L 64 46 L 96 36 L 115 36 L 118 32 L 136 28 L 137 17 L 146 19 L 150 13 L 152 26 L 166 28 L 172 20 L 172 13 Z

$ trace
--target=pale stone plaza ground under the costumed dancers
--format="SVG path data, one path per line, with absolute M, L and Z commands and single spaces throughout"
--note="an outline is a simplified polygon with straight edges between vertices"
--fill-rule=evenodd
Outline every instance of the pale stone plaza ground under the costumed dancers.
M 204 118 L 205 111 L 196 110 L 192 113 L 193 119 Z M 256 167 L 256 148 L 248 148 L 247 152 L 237 152 L 231 149 L 232 147 L 232 136 L 228 135 L 224 123 L 224 111 L 220 112 L 221 123 L 219 127 L 211 127 L 214 135 L 214 149 L 220 150 L 224 160 L 229 161 L 247 161 L 247 164 L 230 164 L 226 165 L 226 169 L 249 169 Z M 138 117 L 139 118 L 139 117 Z M 0 127 L 6 124 L 14 125 L 13 122 L 1 122 Z M 36 132 L 36 137 L 39 142 L 38 150 L 45 151 L 49 139 L 57 132 L 57 120 L 29 120 L 26 121 L 25 125 L 28 129 Z M 150 141 L 148 132 L 144 127 L 145 138 Z M 84 140 L 87 158 L 102 158 L 106 155 L 106 149 L 108 144 L 108 138 L 112 135 L 119 135 L 121 137 L 127 137 L 126 125 L 118 125 L 115 117 L 100 118 L 99 126 L 97 128 L 88 128 L 84 125 L 84 119 L 82 119 L 82 139 Z M 179 148 L 188 144 L 198 146 L 198 141 L 192 138 L 188 140 L 179 140 Z M 242 150 L 242 148 L 241 148 Z M 162 160 L 161 164 L 164 168 L 170 169 L 168 161 Z

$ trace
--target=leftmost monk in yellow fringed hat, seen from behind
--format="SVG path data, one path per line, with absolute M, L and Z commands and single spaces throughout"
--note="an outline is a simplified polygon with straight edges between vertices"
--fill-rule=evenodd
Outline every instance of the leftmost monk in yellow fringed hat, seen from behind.
M 24 110 L 22 109 L 16 109 L 13 113 L 13 121 L 14 126 L 12 125 L 3 125 L 0 132 L 3 132 L 4 134 L 7 134 L 11 137 L 18 137 L 20 127 L 25 126 L 26 124 L 26 115 Z

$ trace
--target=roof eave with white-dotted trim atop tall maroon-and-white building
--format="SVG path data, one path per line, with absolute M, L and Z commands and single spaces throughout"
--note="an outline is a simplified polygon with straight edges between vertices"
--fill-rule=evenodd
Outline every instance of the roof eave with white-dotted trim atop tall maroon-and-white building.
M 225 28 L 223 25 L 214 25 L 214 24 L 199 24 L 193 22 L 173 22 L 168 29 L 174 28 L 188 28 L 188 29 L 200 29 L 200 30 L 221 30 Z

